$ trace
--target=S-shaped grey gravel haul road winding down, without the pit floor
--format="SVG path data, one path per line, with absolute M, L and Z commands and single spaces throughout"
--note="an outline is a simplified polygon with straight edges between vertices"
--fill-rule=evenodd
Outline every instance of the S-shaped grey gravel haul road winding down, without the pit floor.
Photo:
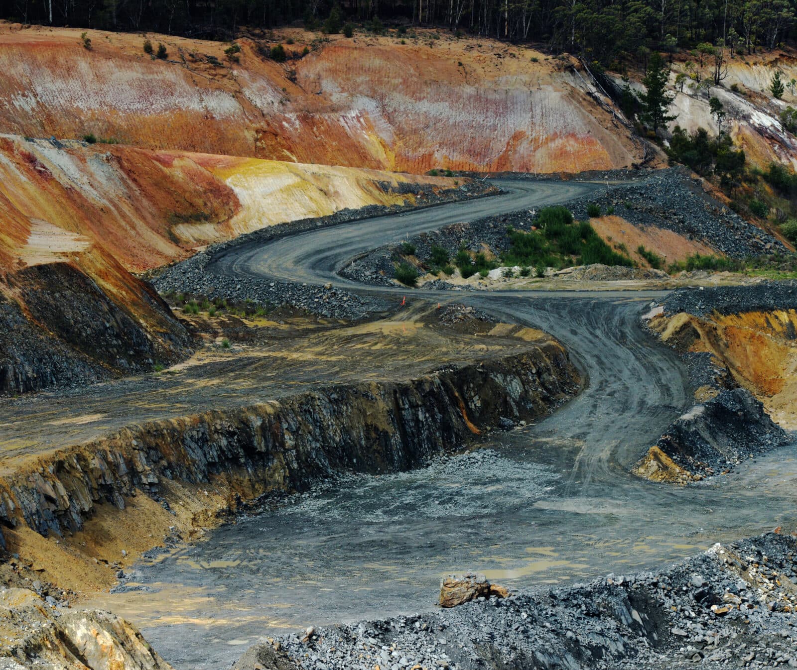
M 406 214 L 374 217 L 313 230 L 268 243 L 227 249 L 208 269 L 226 275 L 282 281 L 332 283 L 358 293 L 406 294 L 404 288 L 359 284 L 338 272 L 352 257 L 371 249 L 490 214 L 566 202 L 605 188 L 597 182 L 497 180 L 508 194 L 456 202 Z M 508 321 L 540 327 L 571 352 L 589 380 L 567 408 L 544 422 L 557 441 L 580 445 L 570 478 L 616 480 L 653 444 L 687 406 L 684 367 L 639 327 L 649 300 L 664 292 L 428 292 L 410 296 L 465 302 Z

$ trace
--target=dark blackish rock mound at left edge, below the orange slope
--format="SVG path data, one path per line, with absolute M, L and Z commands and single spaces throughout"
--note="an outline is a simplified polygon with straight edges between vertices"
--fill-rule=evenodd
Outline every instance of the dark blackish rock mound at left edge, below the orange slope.
M 183 323 L 132 276 L 124 304 L 73 264 L 34 265 L 6 280 L 0 280 L 0 395 L 83 386 L 191 351 Z

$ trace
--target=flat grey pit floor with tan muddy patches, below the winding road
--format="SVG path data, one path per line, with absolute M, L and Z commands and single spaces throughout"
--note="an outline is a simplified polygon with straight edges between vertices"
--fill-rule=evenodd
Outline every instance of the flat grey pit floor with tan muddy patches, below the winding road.
M 797 445 L 673 488 L 611 464 L 574 478 L 579 445 L 542 427 L 296 496 L 140 562 L 128 582 L 138 590 L 92 605 L 135 621 L 179 670 L 227 668 L 262 636 L 430 609 L 451 571 L 516 587 L 579 582 L 797 523 Z

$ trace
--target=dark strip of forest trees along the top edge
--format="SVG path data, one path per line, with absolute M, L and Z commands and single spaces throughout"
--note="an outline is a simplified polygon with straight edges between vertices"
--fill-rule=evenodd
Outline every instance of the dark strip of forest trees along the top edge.
M 233 39 L 241 26 L 304 21 L 338 32 L 367 22 L 437 26 L 546 42 L 603 65 L 646 62 L 658 50 L 724 45 L 752 53 L 791 37 L 795 0 L 0 0 L 0 18 L 42 25 L 154 30 Z

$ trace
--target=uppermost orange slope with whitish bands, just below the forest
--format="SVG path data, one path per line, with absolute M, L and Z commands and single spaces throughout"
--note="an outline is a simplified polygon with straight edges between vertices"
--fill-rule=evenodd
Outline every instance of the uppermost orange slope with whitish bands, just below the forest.
M 235 62 L 226 44 L 151 36 L 167 45 L 162 61 L 140 35 L 90 30 L 89 50 L 80 32 L 0 26 L 0 131 L 415 173 L 642 160 L 571 61 L 520 46 L 290 30 L 278 37 L 292 35 L 297 58 L 280 64 L 249 39 Z

